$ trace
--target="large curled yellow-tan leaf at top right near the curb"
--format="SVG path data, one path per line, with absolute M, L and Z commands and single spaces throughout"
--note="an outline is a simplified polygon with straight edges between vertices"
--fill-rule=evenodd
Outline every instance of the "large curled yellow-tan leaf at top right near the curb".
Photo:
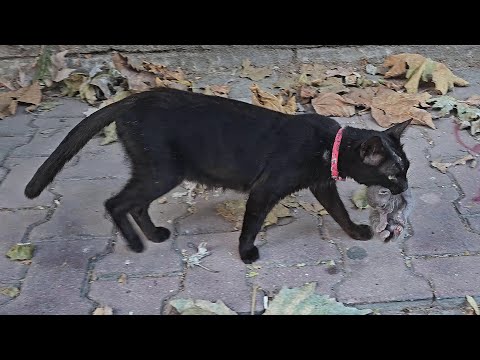
M 467 81 L 453 75 L 446 65 L 418 54 L 390 55 L 385 59 L 383 65 L 391 67 L 385 73 L 385 78 L 405 74 L 405 77 L 409 80 L 404 87 L 409 94 L 418 92 L 420 80 L 424 82 L 432 81 L 435 84 L 435 89 L 442 95 L 453 89 L 454 85 L 468 85 Z

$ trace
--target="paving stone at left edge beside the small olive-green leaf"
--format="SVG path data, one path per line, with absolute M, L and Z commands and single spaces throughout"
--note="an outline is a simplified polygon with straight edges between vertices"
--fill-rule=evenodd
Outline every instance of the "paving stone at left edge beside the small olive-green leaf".
M 28 226 L 45 219 L 45 210 L 17 210 L 0 212 L 0 282 L 20 280 L 28 266 L 5 256 L 8 250 L 22 241 Z

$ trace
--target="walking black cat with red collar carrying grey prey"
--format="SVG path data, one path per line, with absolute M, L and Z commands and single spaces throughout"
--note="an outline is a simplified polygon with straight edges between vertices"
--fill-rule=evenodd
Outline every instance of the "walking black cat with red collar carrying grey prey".
M 304 188 L 352 238 L 372 237 L 368 225 L 350 220 L 332 178 L 332 147 L 340 129 L 335 120 L 166 88 L 131 95 L 80 122 L 37 170 L 25 195 L 40 195 L 65 163 L 113 121 L 131 160 L 131 178 L 105 207 L 133 251 L 143 251 L 144 245 L 127 214 L 148 239 L 166 240 L 170 231 L 155 227 L 148 207 L 185 179 L 249 192 L 239 245 L 247 264 L 259 258 L 254 241 L 269 211 Z M 346 127 L 339 175 L 393 194 L 406 190 L 409 162 L 400 136 L 408 124 L 383 132 Z

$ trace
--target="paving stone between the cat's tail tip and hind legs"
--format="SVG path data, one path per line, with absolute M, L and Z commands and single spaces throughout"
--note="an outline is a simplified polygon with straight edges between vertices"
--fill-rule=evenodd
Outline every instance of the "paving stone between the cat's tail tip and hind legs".
M 104 202 L 120 189 L 115 180 L 58 182 L 55 192 L 63 195 L 52 218 L 33 229 L 32 241 L 57 236 L 109 236 L 113 224 L 105 216 Z

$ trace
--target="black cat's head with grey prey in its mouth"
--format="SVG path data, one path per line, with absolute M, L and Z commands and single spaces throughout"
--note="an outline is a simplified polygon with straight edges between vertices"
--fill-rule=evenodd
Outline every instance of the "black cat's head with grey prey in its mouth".
M 355 152 L 361 164 L 352 169 L 355 181 L 367 186 L 382 186 L 394 195 L 407 190 L 410 162 L 400 138 L 410 122 L 405 121 L 385 131 L 369 134 L 368 138 L 357 142 Z

